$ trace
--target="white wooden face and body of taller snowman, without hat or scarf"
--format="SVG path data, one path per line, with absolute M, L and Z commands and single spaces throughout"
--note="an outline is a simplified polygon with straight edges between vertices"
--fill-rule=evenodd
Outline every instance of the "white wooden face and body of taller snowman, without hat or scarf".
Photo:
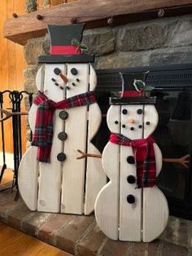
M 67 84 L 55 74 L 55 68 L 68 77 Z M 75 73 L 72 72 L 74 68 Z M 90 64 L 45 64 L 38 70 L 36 82 L 37 89 L 48 99 L 59 102 L 94 90 L 97 77 Z M 32 131 L 36 113 L 37 105 L 33 104 L 28 114 Z M 76 150 L 82 148 L 85 152 L 98 153 L 90 141 L 101 119 L 97 103 L 55 110 L 50 163 L 37 161 L 37 147 L 34 146 L 28 148 L 20 162 L 20 194 L 30 210 L 67 214 L 90 214 L 94 210 L 95 198 L 106 183 L 106 176 L 101 161 L 93 158 L 78 161 Z M 59 154 L 61 159 L 58 159 Z

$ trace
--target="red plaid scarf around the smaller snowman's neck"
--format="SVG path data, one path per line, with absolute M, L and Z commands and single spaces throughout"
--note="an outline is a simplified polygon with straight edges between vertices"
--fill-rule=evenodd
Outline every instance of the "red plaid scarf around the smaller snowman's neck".
M 137 166 L 137 188 L 150 188 L 156 183 L 156 163 L 153 143 L 155 139 L 130 140 L 124 135 L 111 134 L 110 142 L 133 147 L 133 156 Z

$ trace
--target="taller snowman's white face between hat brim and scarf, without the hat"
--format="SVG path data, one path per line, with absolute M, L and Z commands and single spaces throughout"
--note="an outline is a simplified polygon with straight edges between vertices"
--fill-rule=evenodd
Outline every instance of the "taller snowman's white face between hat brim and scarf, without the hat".
M 49 99 L 59 101 L 94 90 L 97 77 L 90 64 L 44 64 L 37 72 L 36 83 Z

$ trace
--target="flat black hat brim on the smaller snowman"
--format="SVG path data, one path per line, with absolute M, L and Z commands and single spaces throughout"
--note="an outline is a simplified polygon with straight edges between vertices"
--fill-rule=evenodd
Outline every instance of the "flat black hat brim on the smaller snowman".
M 122 97 L 122 98 L 110 98 L 111 105 L 129 105 L 129 104 L 155 104 L 156 97 Z

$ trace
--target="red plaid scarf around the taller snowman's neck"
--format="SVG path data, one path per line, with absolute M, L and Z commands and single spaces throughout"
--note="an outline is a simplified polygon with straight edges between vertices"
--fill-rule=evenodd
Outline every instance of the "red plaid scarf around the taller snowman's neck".
M 68 99 L 54 102 L 46 95 L 38 92 L 33 103 L 38 105 L 35 132 L 33 134 L 33 146 L 37 146 L 37 160 L 50 162 L 50 150 L 53 139 L 53 115 L 55 109 L 75 108 L 94 104 L 96 102 L 94 92 L 89 91 L 81 95 L 76 95 Z

